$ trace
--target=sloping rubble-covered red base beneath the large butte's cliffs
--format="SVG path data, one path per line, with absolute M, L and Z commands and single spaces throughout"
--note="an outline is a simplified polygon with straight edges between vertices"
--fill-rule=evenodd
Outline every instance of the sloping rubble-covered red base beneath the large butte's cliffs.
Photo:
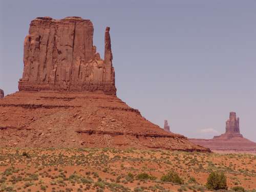
M 19 91 L 0 100 L 0 146 L 166 148 L 209 152 L 113 95 Z

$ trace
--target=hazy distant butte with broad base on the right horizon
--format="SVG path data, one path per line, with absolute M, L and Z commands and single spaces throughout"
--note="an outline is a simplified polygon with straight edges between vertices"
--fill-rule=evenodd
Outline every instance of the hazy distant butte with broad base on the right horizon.
M 239 151 L 256 153 L 256 143 L 240 134 L 239 117 L 235 112 L 229 113 L 226 121 L 226 132 L 212 139 L 189 139 L 189 141 L 217 151 Z

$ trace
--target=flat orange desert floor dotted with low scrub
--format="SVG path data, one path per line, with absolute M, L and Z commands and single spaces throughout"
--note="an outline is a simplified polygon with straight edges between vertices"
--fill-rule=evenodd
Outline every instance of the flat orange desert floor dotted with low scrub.
M 174 170 L 184 184 L 162 182 Z M 211 170 L 228 189 L 256 191 L 256 156 L 115 148 L 0 148 L 0 191 L 209 191 Z M 146 173 L 148 179 L 138 180 Z

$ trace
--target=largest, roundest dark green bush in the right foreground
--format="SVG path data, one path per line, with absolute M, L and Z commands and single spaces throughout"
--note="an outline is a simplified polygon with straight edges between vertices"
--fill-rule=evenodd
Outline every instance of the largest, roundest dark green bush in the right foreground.
M 206 187 L 214 190 L 227 189 L 227 178 L 223 173 L 211 172 L 207 178 Z

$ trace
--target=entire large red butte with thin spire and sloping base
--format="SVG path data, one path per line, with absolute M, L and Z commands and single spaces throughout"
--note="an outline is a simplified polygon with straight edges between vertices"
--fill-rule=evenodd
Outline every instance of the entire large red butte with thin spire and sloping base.
M 165 132 L 117 98 L 109 31 L 100 59 L 90 20 L 32 20 L 19 91 L 0 99 L 0 146 L 210 152 Z

